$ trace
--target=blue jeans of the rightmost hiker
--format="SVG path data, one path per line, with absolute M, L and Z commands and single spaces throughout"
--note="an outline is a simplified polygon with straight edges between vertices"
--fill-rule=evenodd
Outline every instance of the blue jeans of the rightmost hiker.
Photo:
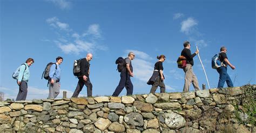
M 219 67 L 217 69 L 217 71 L 220 74 L 218 88 L 223 88 L 225 82 L 227 82 L 228 87 L 233 87 L 232 80 L 231 80 L 230 76 L 227 74 L 227 68 Z

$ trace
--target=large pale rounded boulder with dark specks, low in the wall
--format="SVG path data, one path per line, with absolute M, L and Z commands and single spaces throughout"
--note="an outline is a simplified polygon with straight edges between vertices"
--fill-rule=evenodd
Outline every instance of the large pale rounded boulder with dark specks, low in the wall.
M 183 116 L 174 112 L 170 112 L 165 113 L 165 124 L 170 129 L 179 129 L 185 127 L 186 121 Z

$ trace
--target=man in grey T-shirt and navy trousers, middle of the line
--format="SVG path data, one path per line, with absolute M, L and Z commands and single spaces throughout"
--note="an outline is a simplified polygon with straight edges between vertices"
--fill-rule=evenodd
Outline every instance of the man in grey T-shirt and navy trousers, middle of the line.
M 128 57 L 125 58 L 125 67 L 120 73 L 121 79 L 116 90 L 112 94 L 113 97 L 118 97 L 118 95 L 122 92 L 124 87 L 126 88 L 126 91 L 127 91 L 126 95 L 132 95 L 133 85 L 130 77 L 133 77 L 133 73 L 132 73 L 133 68 L 132 68 L 131 60 L 133 60 L 134 58 L 135 58 L 135 55 L 132 52 L 130 52 L 128 54 Z

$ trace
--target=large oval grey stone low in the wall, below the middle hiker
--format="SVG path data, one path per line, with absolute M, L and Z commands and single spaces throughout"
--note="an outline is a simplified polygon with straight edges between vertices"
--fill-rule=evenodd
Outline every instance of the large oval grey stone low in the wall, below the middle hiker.
M 144 122 L 143 122 L 143 117 L 141 114 L 139 113 L 130 113 L 130 114 L 126 114 L 124 116 L 124 121 L 127 124 L 131 124 L 131 125 L 135 125 L 138 127 L 142 127 Z

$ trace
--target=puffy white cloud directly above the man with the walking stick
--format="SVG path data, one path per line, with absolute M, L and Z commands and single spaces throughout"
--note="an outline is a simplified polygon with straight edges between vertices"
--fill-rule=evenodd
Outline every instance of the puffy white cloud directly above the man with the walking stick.
M 189 34 L 189 33 L 191 33 L 193 26 L 196 26 L 196 25 L 198 25 L 197 20 L 195 20 L 193 18 L 187 18 L 186 20 L 181 22 L 180 31 L 185 34 Z

